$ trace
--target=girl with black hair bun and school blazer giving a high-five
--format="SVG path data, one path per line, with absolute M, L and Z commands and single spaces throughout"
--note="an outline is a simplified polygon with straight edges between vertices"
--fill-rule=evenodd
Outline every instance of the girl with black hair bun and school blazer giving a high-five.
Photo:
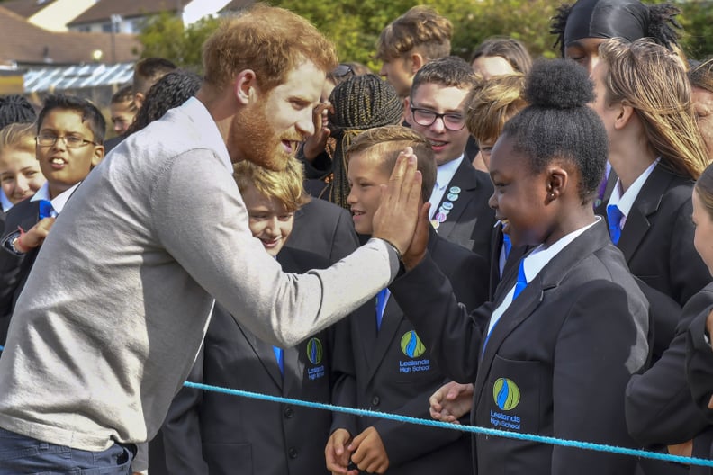
M 474 382 L 474 426 L 633 446 L 622 401 L 646 362 L 648 304 L 591 206 L 607 159 L 591 81 L 572 61 L 540 61 L 525 98 L 492 149 L 490 205 L 513 246 L 535 248 L 468 314 L 426 253 L 423 210 L 407 272 L 389 289 L 432 361 Z M 636 465 L 492 435 L 475 435 L 474 451 L 481 474 L 631 475 Z

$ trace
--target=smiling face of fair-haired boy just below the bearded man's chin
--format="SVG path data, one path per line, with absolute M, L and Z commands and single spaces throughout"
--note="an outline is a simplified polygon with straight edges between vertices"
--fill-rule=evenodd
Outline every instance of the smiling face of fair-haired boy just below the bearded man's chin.
M 292 232 L 294 213 L 286 211 L 282 202 L 265 196 L 254 186 L 248 185 L 241 194 L 248 208 L 248 226 L 253 237 L 260 239 L 267 254 L 275 257 Z

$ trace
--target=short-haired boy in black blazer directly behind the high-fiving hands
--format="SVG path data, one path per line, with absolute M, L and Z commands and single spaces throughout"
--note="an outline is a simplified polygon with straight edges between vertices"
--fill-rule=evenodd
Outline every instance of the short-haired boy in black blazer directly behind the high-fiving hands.
M 418 132 L 402 126 L 367 130 L 349 148 L 351 193 L 347 202 L 358 233 L 371 234 L 381 202 L 380 186 L 386 184 L 396 157 L 407 147 L 418 157 L 426 200 L 436 163 L 429 142 Z M 474 308 L 486 300 L 485 259 L 438 237 L 433 229 L 430 235 L 429 250 L 464 304 Z M 334 365 L 343 374 L 334 390 L 334 403 L 428 417 L 430 393 L 447 380 L 431 359 L 431 347 L 422 345 L 402 309 L 384 291 L 337 326 Z M 350 462 L 352 469 L 389 474 L 436 473 L 446 463 L 449 473 L 472 470 L 467 437 L 458 432 L 343 413 L 334 419 L 326 448 L 332 472 L 346 471 Z

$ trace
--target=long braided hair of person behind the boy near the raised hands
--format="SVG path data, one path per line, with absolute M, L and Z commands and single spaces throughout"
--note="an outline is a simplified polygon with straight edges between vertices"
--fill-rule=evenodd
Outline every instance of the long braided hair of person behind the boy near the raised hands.
M 330 202 L 348 209 L 347 148 L 364 130 L 399 124 L 403 104 L 393 85 L 373 74 L 350 77 L 337 85 L 329 102 L 334 106 L 329 112 L 329 130 L 335 139 L 330 150 L 334 176 L 323 193 L 329 193 Z

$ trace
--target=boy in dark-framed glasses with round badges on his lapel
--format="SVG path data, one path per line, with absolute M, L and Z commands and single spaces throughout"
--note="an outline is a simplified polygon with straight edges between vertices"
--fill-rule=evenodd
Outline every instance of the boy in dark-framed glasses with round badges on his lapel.
M 411 128 L 429 140 L 438 175 L 429 202 L 429 219 L 438 235 L 488 258 L 494 213 L 490 177 L 465 158 L 470 134 L 465 103 L 475 85 L 470 65 L 450 56 L 430 61 L 413 78 L 406 99 Z

